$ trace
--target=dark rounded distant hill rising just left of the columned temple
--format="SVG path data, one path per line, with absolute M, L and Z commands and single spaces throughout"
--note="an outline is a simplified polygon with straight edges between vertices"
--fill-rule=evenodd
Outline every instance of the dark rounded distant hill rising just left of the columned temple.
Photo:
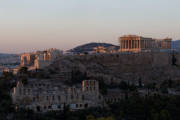
M 71 50 L 68 50 L 68 51 L 73 52 L 73 53 L 84 53 L 84 52 L 93 51 L 93 48 L 97 47 L 97 46 L 103 46 L 105 48 L 114 46 L 116 50 L 119 49 L 119 46 L 116 46 L 116 45 L 113 45 L 113 44 L 92 42 L 92 43 L 87 43 L 87 44 L 84 44 L 84 45 L 77 46 L 77 47 L 75 47 L 75 48 L 73 48 Z

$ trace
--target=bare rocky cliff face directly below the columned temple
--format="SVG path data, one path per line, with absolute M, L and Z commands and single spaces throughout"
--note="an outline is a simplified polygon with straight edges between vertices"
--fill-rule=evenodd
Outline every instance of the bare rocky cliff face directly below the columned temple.
M 174 56 L 176 65 L 172 65 L 172 53 L 66 56 L 56 61 L 51 68 L 59 73 L 79 70 L 88 77 L 103 79 L 107 84 L 122 80 L 134 83 L 139 80 L 146 83 L 180 80 L 180 54 Z

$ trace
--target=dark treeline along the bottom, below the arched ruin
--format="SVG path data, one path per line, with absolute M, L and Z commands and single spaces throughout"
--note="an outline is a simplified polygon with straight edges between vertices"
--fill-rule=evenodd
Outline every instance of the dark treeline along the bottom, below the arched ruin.
M 89 108 L 74 112 L 70 112 L 68 108 L 41 114 L 18 110 L 14 112 L 13 120 L 180 120 L 179 113 L 179 96 L 154 95 L 144 98 L 132 96 L 106 108 Z

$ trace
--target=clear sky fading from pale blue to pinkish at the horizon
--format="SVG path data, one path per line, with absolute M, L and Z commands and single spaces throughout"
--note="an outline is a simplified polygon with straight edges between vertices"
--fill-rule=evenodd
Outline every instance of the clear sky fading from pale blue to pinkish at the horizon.
M 125 34 L 180 39 L 180 0 L 0 0 L 0 53 L 118 45 Z

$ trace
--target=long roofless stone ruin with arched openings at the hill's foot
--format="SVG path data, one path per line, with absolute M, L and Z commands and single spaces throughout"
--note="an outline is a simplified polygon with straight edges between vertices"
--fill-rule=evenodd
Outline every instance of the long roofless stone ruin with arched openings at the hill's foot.
M 37 112 L 85 109 L 101 106 L 103 97 L 96 80 L 84 80 L 82 87 L 66 87 L 57 82 L 30 80 L 28 84 L 18 82 L 12 92 L 13 103 Z

